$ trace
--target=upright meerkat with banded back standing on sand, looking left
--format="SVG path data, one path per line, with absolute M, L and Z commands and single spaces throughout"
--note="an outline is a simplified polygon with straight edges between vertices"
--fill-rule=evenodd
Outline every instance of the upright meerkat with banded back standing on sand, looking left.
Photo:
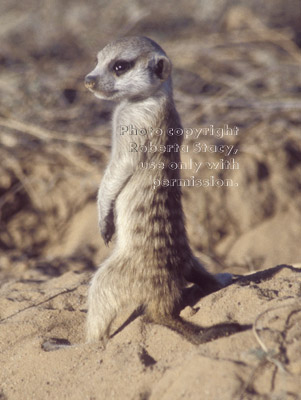
M 181 187 L 153 184 L 180 177 L 178 169 L 168 168 L 170 162 L 180 162 L 180 152 L 172 146 L 182 143 L 181 135 L 172 134 L 182 126 L 171 70 L 170 59 L 153 40 L 124 37 L 98 53 L 96 67 L 85 78 L 85 86 L 97 98 L 118 102 L 111 159 L 98 191 L 101 235 L 108 244 L 116 233 L 116 243 L 89 287 L 89 342 L 105 344 L 118 311 L 131 305 L 142 306 L 146 320 L 198 343 L 196 330 L 176 311 L 182 291 L 188 282 L 208 292 L 223 287 L 189 246 Z M 135 130 L 139 133 L 133 134 Z M 161 134 L 144 134 L 147 131 Z M 150 143 L 161 151 L 136 151 Z M 164 151 L 168 145 L 170 151 Z M 142 168 L 141 163 L 152 168 Z

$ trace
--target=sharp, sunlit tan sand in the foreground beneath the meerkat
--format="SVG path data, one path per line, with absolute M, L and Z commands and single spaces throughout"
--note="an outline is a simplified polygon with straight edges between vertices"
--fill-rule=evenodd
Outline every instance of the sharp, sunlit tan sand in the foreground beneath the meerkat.
M 250 274 L 187 306 L 183 318 L 204 328 L 241 326 L 199 346 L 141 317 L 106 349 L 84 344 L 86 273 L 10 280 L 1 288 L 1 399 L 299 399 L 300 267 Z M 50 338 L 72 346 L 45 351 Z

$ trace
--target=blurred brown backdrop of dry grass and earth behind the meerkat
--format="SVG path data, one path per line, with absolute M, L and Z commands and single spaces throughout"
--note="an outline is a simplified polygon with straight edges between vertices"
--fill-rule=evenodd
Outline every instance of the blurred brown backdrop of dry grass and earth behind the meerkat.
M 109 41 L 144 35 L 173 62 L 185 127 L 237 126 L 237 170 L 183 171 L 193 250 L 212 272 L 301 262 L 300 0 L 0 3 L 0 274 L 93 270 L 108 255 L 96 193 L 114 104 L 83 85 Z M 189 141 L 187 141 L 189 143 Z M 218 154 L 183 154 L 218 161 Z

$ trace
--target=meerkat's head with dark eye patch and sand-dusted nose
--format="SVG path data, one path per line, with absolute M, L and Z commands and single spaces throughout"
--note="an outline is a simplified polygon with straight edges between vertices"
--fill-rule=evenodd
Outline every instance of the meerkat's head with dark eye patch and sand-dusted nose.
M 161 47 L 146 37 L 125 37 L 97 55 L 85 86 L 100 99 L 145 99 L 170 79 L 171 62 Z

